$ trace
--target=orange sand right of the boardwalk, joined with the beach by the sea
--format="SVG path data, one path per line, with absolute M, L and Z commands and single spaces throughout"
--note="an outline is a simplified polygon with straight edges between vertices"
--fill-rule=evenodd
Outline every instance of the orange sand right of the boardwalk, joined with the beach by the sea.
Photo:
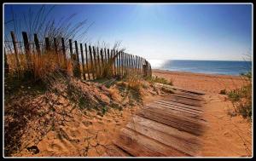
M 232 103 L 222 89 L 236 89 L 246 81 L 237 76 L 211 75 L 192 72 L 168 72 L 153 70 L 153 75 L 173 81 L 184 89 L 201 90 L 207 93 L 204 118 L 208 128 L 201 136 L 205 157 L 241 157 L 252 155 L 252 127 L 241 116 L 231 117 Z

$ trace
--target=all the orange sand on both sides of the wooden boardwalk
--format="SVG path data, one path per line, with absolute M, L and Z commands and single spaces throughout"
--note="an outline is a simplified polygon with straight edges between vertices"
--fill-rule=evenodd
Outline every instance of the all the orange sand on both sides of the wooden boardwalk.
M 241 87 L 244 80 L 233 76 L 160 70 L 154 70 L 153 75 L 172 80 L 174 86 L 183 89 L 206 92 L 203 118 L 207 120 L 207 130 L 200 136 L 202 144 L 200 156 L 241 157 L 252 155 L 251 124 L 241 116 L 230 116 L 228 113 L 233 109 L 232 103 L 228 101 L 226 95 L 218 94 L 222 89 Z M 26 128 L 20 127 L 22 132 L 17 129 L 18 133 L 15 133 L 17 138 L 20 137 L 15 142 L 17 145 L 20 144 L 20 150 L 13 153 L 12 156 L 102 156 L 106 149 L 111 148 L 113 139 L 119 135 L 119 130 L 131 121 L 131 116 L 134 113 L 141 110 L 141 105 L 134 104 L 131 102 L 132 99 L 129 100 L 127 96 L 121 95 L 116 86 L 106 89 L 99 84 L 92 85 L 80 81 L 77 82 L 77 85 L 84 89 L 84 92 L 90 90 L 90 95 L 101 95 L 103 101 L 113 100 L 125 107 L 121 111 L 110 108 L 105 115 L 100 116 L 94 110 L 73 108 L 70 102 L 61 95 L 49 94 L 49 98 L 53 99 L 50 102 L 56 102 L 55 111 L 50 110 L 50 104 L 44 101 L 45 95 L 31 97 L 29 100 L 25 97 L 18 97 L 17 102 L 13 102 L 14 105 L 6 105 L 6 111 L 12 111 L 9 107 L 16 106 L 20 110 L 26 109 L 27 112 L 24 113 L 21 120 L 8 115 L 6 122 L 27 123 Z M 164 94 L 160 90 L 154 90 L 145 81 L 143 86 L 144 88 L 140 91 L 143 104 L 155 101 Z M 65 88 L 57 87 L 56 89 Z M 14 98 L 14 100 L 16 99 Z M 31 117 L 28 121 L 26 115 L 30 111 L 35 111 L 35 116 L 28 116 Z M 43 118 L 37 114 L 44 112 Z M 61 112 L 67 114 L 63 115 Z M 49 124 L 52 120 L 54 122 Z M 47 126 L 44 125 L 46 123 L 48 123 Z M 13 139 L 15 135 L 10 137 Z M 28 150 L 27 147 L 33 146 L 38 148 L 38 152 Z

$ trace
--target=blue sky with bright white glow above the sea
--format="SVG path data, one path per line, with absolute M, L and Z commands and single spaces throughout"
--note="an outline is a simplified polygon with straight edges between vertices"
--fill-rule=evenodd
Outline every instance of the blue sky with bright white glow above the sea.
M 28 8 L 39 6 L 13 6 L 15 13 Z M 5 21 L 11 20 L 10 5 L 4 9 Z M 251 54 L 250 4 L 62 4 L 50 16 L 74 13 L 74 21 L 94 22 L 91 42 L 121 41 L 126 52 L 146 59 L 242 60 Z

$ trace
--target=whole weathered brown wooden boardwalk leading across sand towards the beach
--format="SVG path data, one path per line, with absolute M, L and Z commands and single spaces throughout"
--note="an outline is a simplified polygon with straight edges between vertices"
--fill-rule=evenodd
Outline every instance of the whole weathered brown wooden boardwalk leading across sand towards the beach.
M 104 156 L 109 157 L 192 157 L 200 156 L 206 121 L 202 118 L 204 95 L 175 89 L 163 99 L 143 106 L 121 129 Z

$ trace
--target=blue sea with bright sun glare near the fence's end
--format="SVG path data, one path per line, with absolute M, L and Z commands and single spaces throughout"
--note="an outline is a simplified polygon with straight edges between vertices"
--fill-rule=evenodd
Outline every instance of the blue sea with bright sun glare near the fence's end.
M 207 74 L 240 75 L 252 70 L 252 61 L 231 60 L 148 60 L 152 69 Z

